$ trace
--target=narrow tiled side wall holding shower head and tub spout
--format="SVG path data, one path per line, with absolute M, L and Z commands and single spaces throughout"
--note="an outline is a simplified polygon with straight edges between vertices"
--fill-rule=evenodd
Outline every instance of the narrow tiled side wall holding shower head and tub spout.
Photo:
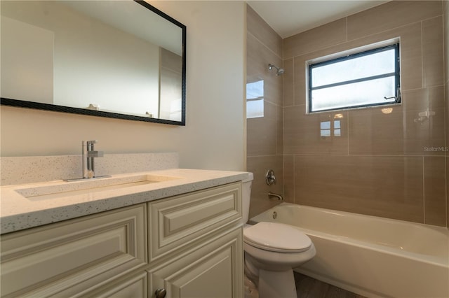
M 278 204 L 268 192 L 283 193 L 282 76 L 268 64 L 282 66 L 282 38 L 255 11 L 247 7 L 247 83 L 263 81 L 263 117 L 247 120 L 247 170 L 254 173 L 250 217 Z M 276 184 L 265 183 L 273 169 Z

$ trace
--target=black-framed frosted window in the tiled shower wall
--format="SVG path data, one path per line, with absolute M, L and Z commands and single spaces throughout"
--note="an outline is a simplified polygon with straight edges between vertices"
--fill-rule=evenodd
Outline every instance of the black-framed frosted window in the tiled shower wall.
M 399 43 L 309 64 L 309 112 L 401 102 Z

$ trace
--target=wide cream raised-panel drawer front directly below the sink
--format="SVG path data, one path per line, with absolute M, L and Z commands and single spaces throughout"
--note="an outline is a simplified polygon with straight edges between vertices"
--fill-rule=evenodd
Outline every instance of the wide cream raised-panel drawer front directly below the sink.
M 140 204 L 2 236 L 1 296 L 58 295 L 142 266 L 145 216 Z

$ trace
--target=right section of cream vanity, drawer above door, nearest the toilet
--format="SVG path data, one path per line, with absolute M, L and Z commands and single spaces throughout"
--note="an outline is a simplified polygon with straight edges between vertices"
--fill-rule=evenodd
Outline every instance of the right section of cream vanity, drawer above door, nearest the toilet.
M 151 297 L 243 297 L 241 183 L 148 204 Z

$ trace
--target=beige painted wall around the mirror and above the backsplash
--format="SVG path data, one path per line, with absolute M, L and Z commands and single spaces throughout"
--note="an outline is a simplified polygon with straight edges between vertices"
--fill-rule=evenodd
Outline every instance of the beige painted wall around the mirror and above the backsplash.
M 1 156 L 79 154 L 81 140 L 97 139 L 107 153 L 179 152 L 182 167 L 245 169 L 245 4 L 151 3 L 187 26 L 187 125 L 1 106 Z

